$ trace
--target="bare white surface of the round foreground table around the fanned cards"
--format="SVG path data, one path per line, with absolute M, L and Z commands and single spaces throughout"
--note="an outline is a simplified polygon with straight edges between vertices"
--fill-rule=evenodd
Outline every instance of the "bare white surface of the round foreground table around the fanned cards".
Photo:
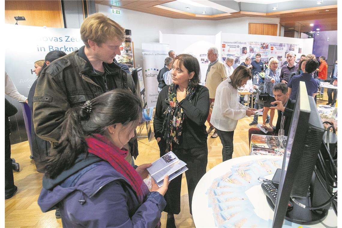
M 193 200 L 192 200 L 192 212 L 195 226 L 198 227 L 215 227 L 213 211 L 211 207 L 208 207 L 208 195 L 206 194 L 209 186 L 212 184 L 215 178 L 222 176 L 223 174 L 230 171 L 232 165 L 247 161 L 255 161 L 259 159 L 272 158 L 282 160 L 282 156 L 273 155 L 251 155 L 233 158 L 228 161 L 222 162 L 214 166 L 209 170 L 198 182 Z M 265 176 L 267 179 L 272 179 L 274 174 Z M 264 220 L 273 220 L 274 211 L 268 205 L 266 196 L 261 189 L 261 185 L 254 185 L 245 191 L 249 201 L 253 204 L 254 212 L 257 216 Z M 329 210 L 328 216 L 323 220 L 322 223 L 316 225 L 298 225 L 289 221 L 285 221 L 286 227 L 337 227 L 337 216 L 332 209 Z M 272 224 L 271 224 L 272 226 Z

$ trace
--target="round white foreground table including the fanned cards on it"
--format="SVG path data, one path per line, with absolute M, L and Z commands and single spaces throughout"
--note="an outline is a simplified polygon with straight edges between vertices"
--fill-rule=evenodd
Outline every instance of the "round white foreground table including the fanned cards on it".
M 242 156 L 209 170 L 195 188 L 192 212 L 196 227 L 272 227 L 274 211 L 268 205 L 258 177 L 272 179 L 282 157 Z M 333 210 L 322 223 L 336 227 Z M 284 220 L 283 227 L 306 227 Z

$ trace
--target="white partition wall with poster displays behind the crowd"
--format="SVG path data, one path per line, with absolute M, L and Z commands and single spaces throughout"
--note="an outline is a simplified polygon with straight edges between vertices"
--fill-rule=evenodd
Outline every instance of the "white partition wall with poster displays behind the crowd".
M 163 34 L 159 32 L 159 42 L 169 43 L 170 49 L 176 54 L 192 54 L 197 57 L 201 68 L 201 82 L 204 84 L 208 69 L 207 52 L 212 46 L 219 50 L 219 59 L 224 61 L 227 56 L 236 59 L 233 67 L 244 62 L 246 57 L 255 58 L 261 53 L 262 61 L 269 57 L 279 59 L 279 67 L 286 61 L 285 54 L 294 52 L 300 58 L 302 54 L 311 54 L 313 39 L 298 39 L 278 36 L 250 35 L 219 32 L 213 36 Z M 262 48 L 261 48 L 262 47 Z M 242 53 L 244 50 L 244 53 Z

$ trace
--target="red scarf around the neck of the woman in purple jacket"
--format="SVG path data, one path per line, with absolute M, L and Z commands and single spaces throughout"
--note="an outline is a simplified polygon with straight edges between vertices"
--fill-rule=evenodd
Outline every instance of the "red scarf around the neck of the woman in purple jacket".
M 100 134 L 94 134 L 92 137 L 86 138 L 86 141 L 88 152 L 109 162 L 116 171 L 121 173 L 131 184 L 138 201 L 142 204 L 149 190 L 132 165 L 124 159 L 128 151 L 119 149 L 107 137 Z

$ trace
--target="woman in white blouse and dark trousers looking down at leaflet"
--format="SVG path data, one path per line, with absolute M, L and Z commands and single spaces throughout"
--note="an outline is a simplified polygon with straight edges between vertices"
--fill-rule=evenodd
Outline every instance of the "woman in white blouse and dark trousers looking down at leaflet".
M 223 146 L 223 161 L 229 160 L 233 156 L 233 136 L 237 121 L 246 115 L 254 115 L 254 110 L 256 110 L 239 103 L 237 90 L 250 79 L 252 79 L 251 70 L 245 66 L 238 66 L 233 74 L 221 82 L 216 89 L 210 123 L 220 136 Z

